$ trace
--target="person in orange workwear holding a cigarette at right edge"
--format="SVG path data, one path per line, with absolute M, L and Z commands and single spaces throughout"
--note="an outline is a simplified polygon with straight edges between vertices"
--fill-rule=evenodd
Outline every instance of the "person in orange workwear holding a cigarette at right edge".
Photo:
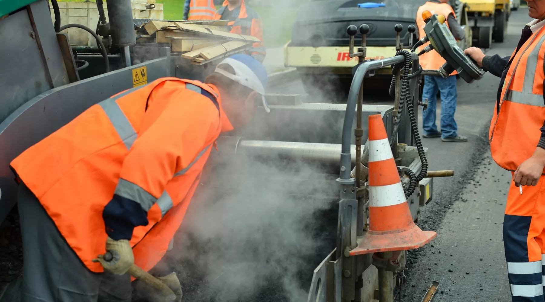
M 513 174 L 505 208 L 503 236 L 513 301 L 543 302 L 545 265 L 545 0 L 526 0 L 529 16 L 511 56 L 465 53 L 500 85 L 489 141 L 492 158 Z

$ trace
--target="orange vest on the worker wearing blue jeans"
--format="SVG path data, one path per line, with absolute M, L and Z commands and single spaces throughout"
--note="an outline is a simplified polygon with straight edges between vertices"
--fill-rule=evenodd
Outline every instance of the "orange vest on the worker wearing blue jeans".
M 431 11 L 432 14 L 443 15 L 445 16 L 445 19 L 449 17 L 450 14 L 456 17 L 454 10 L 448 3 L 426 2 L 424 5 L 419 7 L 418 11 L 416 12 L 416 26 L 418 26 L 420 39 L 426 36 L 426 32 L 424 32 L 424 26 L 426 23 L 422 19 L 422 12 L 425 10 Z M 449 26 L 448 21 L 445 21 L 445 24 Z M 429 42 L 425 43 L 418 48 L 418 51 L 422 51 L 422 49 L 428 45 Z M 438 70 L 441 66 L 443 66 L 443 64 L 445 64 L 445 62 L 445 59 L 443 59 L 443 57 L 441 57 L 436 51 L 431 51 L 420 56 L 420 65 L 422 66 L 423 70 Z M 454 71 L 451 73 L 451 75 L 457 73 L 457 71 Z

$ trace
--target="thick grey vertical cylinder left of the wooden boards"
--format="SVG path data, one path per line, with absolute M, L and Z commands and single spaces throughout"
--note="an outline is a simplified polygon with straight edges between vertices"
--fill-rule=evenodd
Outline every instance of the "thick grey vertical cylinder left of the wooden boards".
M 112 45 L 124 47 L 136 43 L 135 25 L 132 20 L 131 0 L 108 0 L 108 19 Z

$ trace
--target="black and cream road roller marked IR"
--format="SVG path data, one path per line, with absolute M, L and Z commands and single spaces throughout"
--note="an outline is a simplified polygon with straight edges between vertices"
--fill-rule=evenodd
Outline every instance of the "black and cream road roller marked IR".
M 368 24 L 366 59 L 384 59 L 395 55 L 398 50 L 396 35 L 391 28 L 397 23 L 404 28 L 416 24 L 416 11 L 426 0 L 388 0 L 379 7 L 358 6 L 372 2 L 376 1 L 317 0 L 301 5 L 292 39 L 284 47 L 284 65 L 297 68 L 307 93 L 316 95 L 332 89 L 348 92 L 352 68 L 358 64 L 356 58 L 350 58 L 347 49 L 349 41 L 344 29 L 349 24 Z M 466 32 L 466 39 L 459 41 L 459 46 L 469 47 L 471 29 L 467 26 L 467 7 L 458 0 L 452 0 L 450 4 Z M 408 45 L 410 36 L 405 32 L 401 43 Z M 417 39 L 418 30 L 413 37 Z M 360 39 L 361 35 L 356 34 L 356 38 Z M 376 78 L 390 79 L 391 74 L 391 68 L 379 68 Z

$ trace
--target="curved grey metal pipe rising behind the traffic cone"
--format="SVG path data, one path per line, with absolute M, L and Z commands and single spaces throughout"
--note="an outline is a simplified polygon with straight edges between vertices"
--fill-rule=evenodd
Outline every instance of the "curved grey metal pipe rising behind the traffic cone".
M 382 60 L 366 61 L 362 63 L 352 79 L 352 85 L 350 85 L 350 92 L 348 93 L 348 100 L 346 104 L 346 113 L 344 114 L 344 123 L 342 129 L 342 148 L 341 148 L 341 173 L 340 178 L 337 181 L 341 183 L 353 183 L 354 180 L 350 178 L 350 162 L 352 161 L 352 154 L 350 149 L 350 138 L 352 137 L 352 125 L 354 123 L 354 113 L 356 109 L 356 103 L 358 102 L 358 94 L 360 87 L 363 85 L 363 80 L 367 71 L 377 70 L 384 66 L 391 66 L 405 61 L 405 56 L 396 55 L 391 58 Z M 344 169 L 342 169 L 344 167 Z

